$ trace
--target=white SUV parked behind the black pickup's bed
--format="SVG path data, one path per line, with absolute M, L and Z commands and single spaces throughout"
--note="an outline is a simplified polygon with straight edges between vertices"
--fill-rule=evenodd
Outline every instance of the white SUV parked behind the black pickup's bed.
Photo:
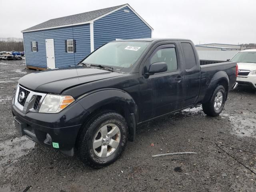
M 256 88 L 256 49 L 242 50 L 230 61 L 238 64 L 236 82 Z

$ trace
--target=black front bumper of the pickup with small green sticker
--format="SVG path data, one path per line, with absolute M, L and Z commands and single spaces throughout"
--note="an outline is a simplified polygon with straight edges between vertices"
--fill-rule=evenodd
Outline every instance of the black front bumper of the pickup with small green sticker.
M 12 114 L 18 132 L 49 148 L 73 156 L 84 108 L 74 103 L 57 114 L 28 112 L 24 114 L 12 100 Z

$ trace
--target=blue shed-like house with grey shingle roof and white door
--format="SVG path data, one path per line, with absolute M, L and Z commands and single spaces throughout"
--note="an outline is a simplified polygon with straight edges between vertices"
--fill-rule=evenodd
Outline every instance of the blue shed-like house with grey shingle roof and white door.
M 152 30 L 129 4 L 51 19 L 22 31 L 26 66 L 75 65 L 107 42 L 151 38 Z

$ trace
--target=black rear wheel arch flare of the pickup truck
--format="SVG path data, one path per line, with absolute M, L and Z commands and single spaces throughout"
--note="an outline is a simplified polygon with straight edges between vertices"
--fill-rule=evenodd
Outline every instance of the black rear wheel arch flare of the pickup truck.
M 225 100 L 227 100 L 227 96 L 228 96 L 228 86 L 229 86 L 229 78 L 228 78 L 228 74 L 225 71 L 219 71 L 217 72 L 211 79 L 210 84 L 206 90 L 206 94 L 204 96 L 203 102 L 202 103 L 206 103 L 208 102 L 208 100 L 211 98 L 215 88 L 218 85 L 223 85 L 226 91 L 226 98 Z

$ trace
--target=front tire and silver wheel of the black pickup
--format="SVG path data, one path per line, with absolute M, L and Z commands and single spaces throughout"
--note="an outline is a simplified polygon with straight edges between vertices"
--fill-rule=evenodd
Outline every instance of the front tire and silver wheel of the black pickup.
M 79 157 L 84 164 L 101 168 L 121 156 L 127 141 L 124 117 L 113 111 L 103 111 L 85 124 L 78 141 Z

